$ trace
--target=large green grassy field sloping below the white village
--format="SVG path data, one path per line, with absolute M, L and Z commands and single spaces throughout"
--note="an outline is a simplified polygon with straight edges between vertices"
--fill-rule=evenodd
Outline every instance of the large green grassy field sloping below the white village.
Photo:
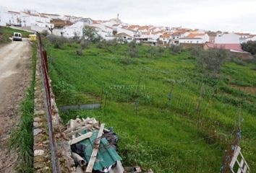
M 153 48 L 140 45 L 139 57 L 127 58 L 127 45 L 90 45 L 77 56 L 80 45 L 75 43 L 45 45 L 58 105 L 103 95 L 101 110 L 61 112 L 64 123 L 79 115 L 114 127 L 126 166 L 154 172 L 219 172 L 241 115 L 242 152 L 256 172 L 252 63 L 226 63 L 219 78 L 210 79 L 188 51 L 153 53 Z M 198 118 L 200 90 L 204 92 Z

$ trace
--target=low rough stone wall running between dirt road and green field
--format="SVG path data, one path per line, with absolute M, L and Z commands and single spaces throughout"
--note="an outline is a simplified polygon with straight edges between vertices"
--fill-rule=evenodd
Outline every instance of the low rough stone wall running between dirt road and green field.
M 35 72 L 35 110 L 34 110 L 34 172 L 52 172 L 51 149 L 48 134 L 48 121 L 46 115 L 46 103 L 44 102 L 44 89 L 42 79 L 42 66 L 40 56 Z M 51 86 L 51 81 L 50 81 Z M 56 148 L 56 163 L 60 167 L 58 172 L 74 172 L 74 161 L 71 158 L 70 148 L 67 145 L 67 140 L 61 133 L 63 129 L 59 117 L 59 110 L 56 106 L 54 93 L 51 90 L 51 110 L 52 124 L 54 132 L 54 141 Z

